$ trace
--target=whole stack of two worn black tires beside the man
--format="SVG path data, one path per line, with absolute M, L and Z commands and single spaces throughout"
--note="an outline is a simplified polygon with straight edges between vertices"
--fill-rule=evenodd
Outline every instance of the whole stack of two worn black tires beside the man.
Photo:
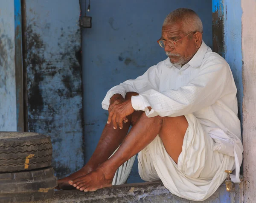
M 49 136 L 0 132 L 0 202 L 30 202 L 53 197 L 57 178 L 51 161 Z

